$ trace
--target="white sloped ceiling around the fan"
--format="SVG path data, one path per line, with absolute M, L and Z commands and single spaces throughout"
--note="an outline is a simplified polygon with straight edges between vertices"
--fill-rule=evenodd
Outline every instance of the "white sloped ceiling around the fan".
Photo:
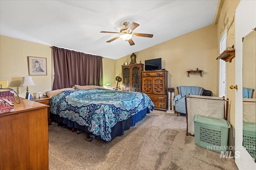
M 119 59 L 214 22 L 218 0 L 0 0 L 0 35 Z M 140 24 L 130 46 L 122 21 Z

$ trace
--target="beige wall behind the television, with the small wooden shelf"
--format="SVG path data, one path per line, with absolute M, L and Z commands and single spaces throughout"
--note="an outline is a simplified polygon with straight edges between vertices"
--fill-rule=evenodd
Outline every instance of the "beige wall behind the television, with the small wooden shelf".
M 177 86 L 200 86 L 211 90 L 216 96 L 217 62 L 217 26 L 209 25 L 192 31 L 180 37 L 176 37 L 154 47 L 135 52 L 136 61 L 162 58 L 162 67 L 168 70 L 168 87 Z M 145 38 L 146 39 L 146 38 Z M 121 76 L 121 65 L 130 63 L 130 55 L 116 60 L 116 75 Z M 190 74 L 188 70 L 196 68 L 204 70 L 200 74 Z

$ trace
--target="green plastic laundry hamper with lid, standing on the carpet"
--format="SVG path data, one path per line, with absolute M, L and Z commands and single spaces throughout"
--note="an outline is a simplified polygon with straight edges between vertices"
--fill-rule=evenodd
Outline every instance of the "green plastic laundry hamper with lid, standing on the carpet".
M 228 129 L 230 123 L 225 119 L 194 115 L 196 146 L 220 153 L 228 148 Z

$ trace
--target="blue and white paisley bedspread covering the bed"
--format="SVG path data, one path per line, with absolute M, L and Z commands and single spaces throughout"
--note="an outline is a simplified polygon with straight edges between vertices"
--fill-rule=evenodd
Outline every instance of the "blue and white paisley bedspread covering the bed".
M 105 141 L 111 141 L 111 127 L 118 121 L 147 107 L 152 111 L 154 104 L 144 93 L 104 88 L 64 91 L 50 100 L 52 114 L 88 126 L 88 131 Z

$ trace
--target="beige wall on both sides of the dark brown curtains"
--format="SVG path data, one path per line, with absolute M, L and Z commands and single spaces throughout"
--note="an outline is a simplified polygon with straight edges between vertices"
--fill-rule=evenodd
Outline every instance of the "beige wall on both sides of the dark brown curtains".
M 38 92 L 52 89 L 53 68 L 52 49 L 49 45 L 33 43 L 0 35 L 0 80 L 8 80 L 9 88 L 25 98 L 26 87 L 19 87 L 22 77 L 28 75 L 28 56 L 43 57 L 47 60 L 47 75 L 32 76 L 36 86 L 30 86 L 29 92 L 38 97 Z M 103 82 L 115 86 L 115 60 L 103 58 Z

